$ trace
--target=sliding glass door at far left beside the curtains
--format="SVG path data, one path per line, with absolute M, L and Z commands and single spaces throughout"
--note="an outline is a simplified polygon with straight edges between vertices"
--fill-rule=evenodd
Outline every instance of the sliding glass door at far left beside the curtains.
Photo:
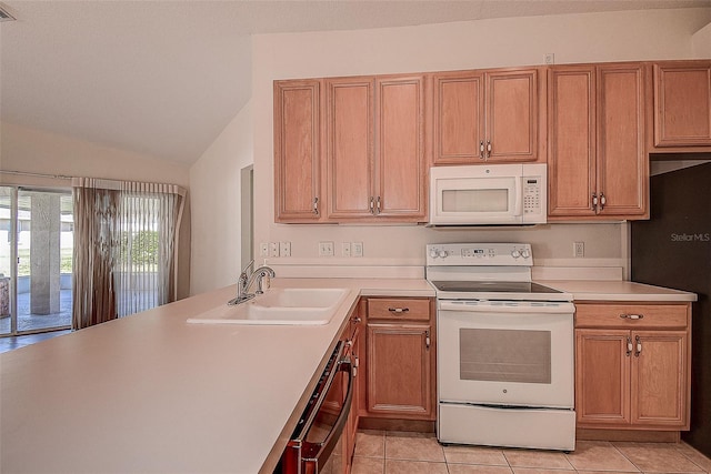
M 0 188 L 0 334 L 71 327 L 72 251 L 71 191 Z

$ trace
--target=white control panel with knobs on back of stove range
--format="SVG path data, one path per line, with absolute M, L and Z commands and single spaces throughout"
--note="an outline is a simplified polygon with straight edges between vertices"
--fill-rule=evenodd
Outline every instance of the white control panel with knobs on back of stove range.
M 427 245 L 428 266 L 532 266 L 529 243 L 433 243 Z

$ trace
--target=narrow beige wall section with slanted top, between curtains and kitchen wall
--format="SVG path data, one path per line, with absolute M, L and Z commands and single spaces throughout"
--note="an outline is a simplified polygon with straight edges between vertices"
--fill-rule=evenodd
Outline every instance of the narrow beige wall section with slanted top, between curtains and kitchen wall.
M 252 137 L 250 102 L 190 169 L 191 294 L 237 282 L 242 240 L 240 170 L 253 163 Z

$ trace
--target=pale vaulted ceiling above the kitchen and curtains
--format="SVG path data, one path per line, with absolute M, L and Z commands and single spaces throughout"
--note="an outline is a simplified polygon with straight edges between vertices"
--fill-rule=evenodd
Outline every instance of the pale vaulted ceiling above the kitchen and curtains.
M 0 119 L 190 164 L 251 95 L 259 33 L 711 7 L 711 0 L 28 1 L 0 7 Z

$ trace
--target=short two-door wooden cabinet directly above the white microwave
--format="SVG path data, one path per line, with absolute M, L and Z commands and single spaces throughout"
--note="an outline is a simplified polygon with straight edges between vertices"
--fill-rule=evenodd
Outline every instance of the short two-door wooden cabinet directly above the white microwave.
M 433 74 L 433 164 L 537 161 L 545 124 L 539 70 Z

